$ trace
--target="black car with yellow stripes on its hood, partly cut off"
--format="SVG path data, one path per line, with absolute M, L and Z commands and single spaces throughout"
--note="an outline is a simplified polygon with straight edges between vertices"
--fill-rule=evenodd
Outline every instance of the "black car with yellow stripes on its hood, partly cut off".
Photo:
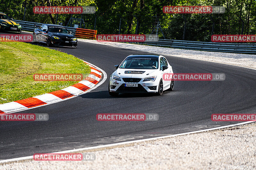
M 6 32 L 21 33 L 21 25 L 14 22 L 5 13 L 0 12 L 0 30 Z

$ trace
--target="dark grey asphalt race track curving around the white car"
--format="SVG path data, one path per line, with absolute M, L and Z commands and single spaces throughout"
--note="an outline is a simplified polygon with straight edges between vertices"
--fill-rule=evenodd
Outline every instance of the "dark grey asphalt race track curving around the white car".
M 43 45 L 44 46 L 44 45 Z M 256 113 L 256 70 L 166 56 L 174 73 L 225 73 L 225 81 L 175 81 L 162 96 L 108 94 L 108 79 L 131 54 L 152 54 L 78 42 L 52 48 L 103 69 L 107 80 L 89 93 L 17 113 L 47 113 L 49 121 L 0 122 L 0 159 L 30 156 L 143 138 L 209 129 L 238 122 L 212 122 L 211 114 Z M 158 121 L 99 122 L 98 113 L 157 113 Z

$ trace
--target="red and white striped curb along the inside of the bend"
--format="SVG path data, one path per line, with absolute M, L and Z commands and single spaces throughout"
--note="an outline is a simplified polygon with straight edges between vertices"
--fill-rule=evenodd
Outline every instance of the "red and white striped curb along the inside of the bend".
M 84 80 L 75 85 L 71 85 L 67 88 L 57 90 L 55 92 L 1 104 L 0 114 L 12 113 L 21 110 L 27 110 L 33 107 L 40 107 L 47 104 L 57 103 L 89 92 L 104 83 L 104 81 L 107 79 L 106 72 L 91 63 L 85 61 L 84 63 L 88 64 L 91 68 L 89 76 Z

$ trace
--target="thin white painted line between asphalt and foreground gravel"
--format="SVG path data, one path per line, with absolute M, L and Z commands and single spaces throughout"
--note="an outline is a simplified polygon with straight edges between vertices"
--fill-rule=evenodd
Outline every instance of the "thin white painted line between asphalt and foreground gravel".
M 66 151 L 60 151 L 60 152 L 52 152 L 52 153 L 71 153 L 71 152 L 87 151 L 87 150 L 92 150 L 92 149 L 107 148 L 107 147 L 113 147 L 113 146 L 124 145 L 124 144 L 132 144 L 132 143 L 137 143 L 137 142 L 145 142 L 145 141 L 156 140 L 156 139 L 164 139 L 164 138 L 168 138 L 168 137 L 177 137 L 177 136 L 189 135 L 189 134 L 200 133 L 200 132 L 206 132 L 206 131 L 211 131 L 211 130 L 218 130 L 218 129 L 229 128 L 229 127 L 233 127 L 233 126 L 244 125 L 244 124 L 248 124 L 248 123 L 252 123 L 252 122 L 256 122 L 256 121 L 248 121 L 248 122 L 236 123 L 236 124 L 232 124 L 232 125 L 220 126 L 220 127 L 216 127 L 216 128 L 179 133 L 179 134 L 174 134 L 174 135 L 167 135 L 167 136 L 161 136 L 161 137 L 152 137 L 152 138 L 147 138 L 147 139 L 139 139 L 139 140 L 120 142 L 120 143 L 115 143 L 115 144 L 105 144 L 105 145 L 92 146 L 92 147 L 79 148 L 79 149 L 72 149 L 72 150 L 66 150 Z M 32 156 L 19 157 L 19 158 L 0 160 L 0 164 L 7 163 L 7 162 L 27 160 L 27 159 L 33 159 L 33 155 Z

